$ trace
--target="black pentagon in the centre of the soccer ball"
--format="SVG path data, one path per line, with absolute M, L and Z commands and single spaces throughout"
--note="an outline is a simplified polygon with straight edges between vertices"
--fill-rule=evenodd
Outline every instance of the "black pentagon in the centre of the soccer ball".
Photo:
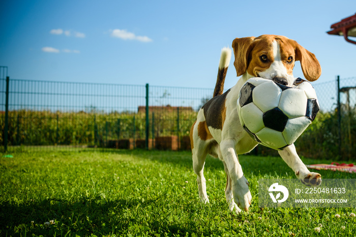
M 288 117 L 279 108 L 263 113 L 262 120 L 265 127 L 282 132 L 288 122 Z

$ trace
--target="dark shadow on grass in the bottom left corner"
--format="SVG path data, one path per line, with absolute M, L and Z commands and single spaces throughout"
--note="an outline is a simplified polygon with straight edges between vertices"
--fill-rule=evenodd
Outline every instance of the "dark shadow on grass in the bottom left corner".
M 47 199 L 19 205 L 5 201 L 0 204 L 0 235 L 182 235 L 197 231 L 193 222 L 173 221 L 177 209 L 169 212 L 160 208 L 166 205 L 165 200 L 163 195 L 152 200 L 131 198 L 107 201 L 96 197 L 74 202 Z M 195 213 L 196 210 L 193 211 Z

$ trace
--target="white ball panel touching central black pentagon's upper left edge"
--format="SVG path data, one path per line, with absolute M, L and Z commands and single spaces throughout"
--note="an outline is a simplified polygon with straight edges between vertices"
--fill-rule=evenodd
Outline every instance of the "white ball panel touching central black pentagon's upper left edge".
M 266 112 L 278 106 L 281 93 L 281 88 L 270 80 L 253 89 L 252 100 L 262 112 Z

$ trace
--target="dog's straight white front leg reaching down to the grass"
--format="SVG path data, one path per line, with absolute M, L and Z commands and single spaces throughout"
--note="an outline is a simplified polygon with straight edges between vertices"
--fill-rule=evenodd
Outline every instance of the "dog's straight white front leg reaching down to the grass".
M 252 196 L 248 187 L 249 183 L 244 176 L 238 156 L 236 155 L 235 144 L 236 142 L 233 139 L 224 140 L 220 143 L 220 150 L 231 178 L 234 202 L 241 209 L 248 211 Z

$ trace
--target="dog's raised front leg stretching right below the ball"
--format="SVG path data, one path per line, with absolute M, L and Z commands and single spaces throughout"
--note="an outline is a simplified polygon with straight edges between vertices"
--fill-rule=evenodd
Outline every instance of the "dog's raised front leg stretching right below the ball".
M 321 175 L 319 173 L 310 172 L 305 166 L 301 158 L 296 153 L 294 144 L 285 147 L 278 151 L 284 162 L 294 171 L 295 176 L 307 186 L 317 186 L 321 183 Z

